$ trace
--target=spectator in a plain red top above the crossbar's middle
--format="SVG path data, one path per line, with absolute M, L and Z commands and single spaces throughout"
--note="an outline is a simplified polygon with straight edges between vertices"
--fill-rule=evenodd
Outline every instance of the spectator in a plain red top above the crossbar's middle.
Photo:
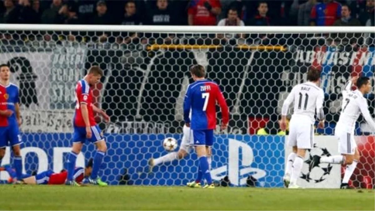
M 220 12 L 219 0 L 191 0 L 187 10 L 187 22 L 190 26 L 214 26 Z

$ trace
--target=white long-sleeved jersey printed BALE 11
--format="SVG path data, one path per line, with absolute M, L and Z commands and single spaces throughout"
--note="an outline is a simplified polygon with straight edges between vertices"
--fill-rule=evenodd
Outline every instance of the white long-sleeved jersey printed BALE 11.
M 293 116 L 308 117 L 311 123 L 315 122 L 315 111 L 319 120 L 324 119 L 323 89 L 315 83 L 306 82 L 293 87 L 282 106 L 281 114 L 287 115 L 289 105 L 294 101 Z M 292 117 L 293 117 L 292 116 Z

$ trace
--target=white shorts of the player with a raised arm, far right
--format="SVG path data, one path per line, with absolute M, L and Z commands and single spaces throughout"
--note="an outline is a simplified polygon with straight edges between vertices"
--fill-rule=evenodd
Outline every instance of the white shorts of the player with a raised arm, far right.
M 354 155 L 356 152 L 357 143 L 354 140 L 354 133 L 348 133 L 347 131 L 336 131 L 335 136 L 339 141 L 339 152 L 345 155 Z

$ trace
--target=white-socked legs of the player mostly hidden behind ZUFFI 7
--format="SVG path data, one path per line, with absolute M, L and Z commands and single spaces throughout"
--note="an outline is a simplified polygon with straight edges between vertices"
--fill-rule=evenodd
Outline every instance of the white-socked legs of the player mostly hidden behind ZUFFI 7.
M 190 146 L 190 128 L 184 125 L 180 149 L 178 149 L 178 152 L 170 152 L 159 158 L 151 158 L 148 161 L 148 165 L 150 167 L 149 170 L 151 171 L 154 166 L 162 164 L 162 163 L 171 162 L 177 159 L 181 160 L 187 155 L 189 155 L 192 149 L 193 148 Z M 207 155 L 208 167 L 209 169 L 211 169 L 211 150 L 208 150 L 207 153 L 208 153 Z

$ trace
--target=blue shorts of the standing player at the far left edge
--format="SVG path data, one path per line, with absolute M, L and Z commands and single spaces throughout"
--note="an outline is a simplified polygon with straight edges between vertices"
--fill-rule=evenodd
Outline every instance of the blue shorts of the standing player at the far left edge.
M 17 125 L 0 127 L 0 148 L 16 146 L 22 143 L 20 130 Z

